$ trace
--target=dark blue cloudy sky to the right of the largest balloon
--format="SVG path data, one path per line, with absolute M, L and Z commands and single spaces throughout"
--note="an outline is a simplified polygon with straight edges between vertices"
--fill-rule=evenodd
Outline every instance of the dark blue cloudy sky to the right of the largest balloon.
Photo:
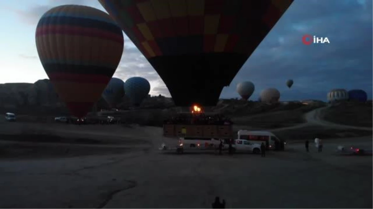
M 372 85 L 361 85 L 373 75 L 372 13 L 368 1 L 294 1 L 222 97 L 235 97 L 236 84 L 244 80 L 256 85 L 254 99 L 267 87 L 278 88 L 283 100 L 325 99 L 334 88 L 373 93 Z M 305 46 L 306 33 L 328 37 L 330 44 Z M 285 86 L 289 78 L 294 79 L 290 90 Z

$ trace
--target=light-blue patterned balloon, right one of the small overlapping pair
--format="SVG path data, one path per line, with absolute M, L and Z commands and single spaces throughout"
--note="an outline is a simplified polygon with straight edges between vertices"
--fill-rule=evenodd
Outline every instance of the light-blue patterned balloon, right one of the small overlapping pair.
M 135 106 L 140 106 L 150 91 L 150 83 L 142 77 L 128 78 L 124 83 L 124 91 Z

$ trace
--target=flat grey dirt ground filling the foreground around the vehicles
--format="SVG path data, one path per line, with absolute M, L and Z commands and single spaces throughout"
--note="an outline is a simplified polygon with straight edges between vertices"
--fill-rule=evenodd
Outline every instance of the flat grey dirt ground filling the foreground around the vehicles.
M 226 200 L 227 209 L 372 206 L 373 157 L 335 155 L 341 144 L 373 148 L 370 138 L 325 140 L 322 153 L 312 143 L 310 153 L 304 152 L 303 143 L 289 143 L 285 152 L 268 152 L 261 158 L 214 152 L 161 153 L 157 145 L 171 139 L 160 137 L 161 129 L 152 127 L 1 123 L 0 131 L 107 141 L 90 145 L 23 142 L 34 145 L 27 148 L 34 154 L 47 149 L 54 157 L 0 158 L 1 209 L 207 209 L 215 196 Z M 9 146 L 20 146 L 17 143 L 1 141 L 0 145 L 15 150 Z M 56 152 L 66 146 L 72 150 L 70 155 L 57 157 Z M 99 151 L 103 149 L 105 153 Z

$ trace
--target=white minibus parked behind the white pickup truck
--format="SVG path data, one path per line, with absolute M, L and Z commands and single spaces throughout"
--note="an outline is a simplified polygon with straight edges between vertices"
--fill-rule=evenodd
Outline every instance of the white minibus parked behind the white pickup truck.
M 262 142 L 264 142 L 267 149 L 281 149 L 281 144 L 285 144 L 285 142 L 281 141 L 277 136 L 269 131 L 239 130 L 238 139 L 245 139 L 257 144 L 261 144 Z M 278 146 L 280 147 L 276 148 L 276 144 L 278 144 Z

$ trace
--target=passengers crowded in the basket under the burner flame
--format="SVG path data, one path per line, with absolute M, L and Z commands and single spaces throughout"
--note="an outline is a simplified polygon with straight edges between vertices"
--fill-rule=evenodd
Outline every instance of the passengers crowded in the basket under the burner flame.
M 184 114 L 165 120 L 164 124 L 175 125 L 231 125 L 232 121 L 222 115 Z

